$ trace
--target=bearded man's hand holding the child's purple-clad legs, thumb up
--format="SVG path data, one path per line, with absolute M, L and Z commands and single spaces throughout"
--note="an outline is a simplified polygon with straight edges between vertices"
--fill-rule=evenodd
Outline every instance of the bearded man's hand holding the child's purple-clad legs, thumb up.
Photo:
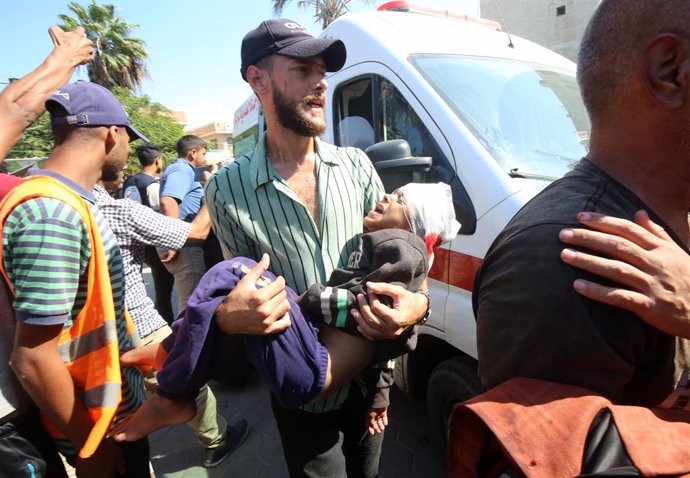
M 265 287 L 256 287 L 269 264 L 264 254 L 216 309 L 216 322 L 226 334 L 267 335 L 290 326 L 285 279 L 278 277 Z

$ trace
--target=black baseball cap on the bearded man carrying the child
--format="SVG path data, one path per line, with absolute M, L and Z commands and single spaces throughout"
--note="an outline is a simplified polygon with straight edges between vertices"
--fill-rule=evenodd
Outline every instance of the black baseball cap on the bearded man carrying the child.
M 279 18 L 266 20 L 242 39 L 242 79 L 247 81 L 247 68 L 268 55 L 311 58 L 321 55 L 326 71 L 338 71 L 345 64 L 345 44 L 336 38 L 314 38 L 299 23 Z

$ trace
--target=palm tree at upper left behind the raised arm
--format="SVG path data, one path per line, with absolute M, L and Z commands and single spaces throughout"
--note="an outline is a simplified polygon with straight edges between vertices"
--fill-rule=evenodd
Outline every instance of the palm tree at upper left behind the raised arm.
M 148 76 L 148 52 L 143 40 L 129 35 L 139 25 L 115 16 L 114 5 L 96 5 L 96 0 L 86 7 L 71 2 L 68 8 L 74 17 L 58 15 L 60 27 L 74 30 L 81 25 L 94 44 L 94 59 L 86 67 L 89 80 L 108 89 L 121 86 L 138 90 Z

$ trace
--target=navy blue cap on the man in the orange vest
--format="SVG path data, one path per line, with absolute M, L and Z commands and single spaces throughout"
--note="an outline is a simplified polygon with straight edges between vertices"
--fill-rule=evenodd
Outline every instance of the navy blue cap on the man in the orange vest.
M 56 108 L 57 105 L 62 108 Z M 117 98 L 96 83 L 77 81 L 63 85 L 48 97 L 45 106 L 50 113 L 51 124 L 124 126 L 130 141 L 141 139 L 151 142 L 132 126 Z

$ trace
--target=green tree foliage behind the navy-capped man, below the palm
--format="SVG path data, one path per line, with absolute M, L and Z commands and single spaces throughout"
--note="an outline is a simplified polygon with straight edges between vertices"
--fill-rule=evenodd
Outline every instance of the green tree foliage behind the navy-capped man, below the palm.
M 175 144 L 184 135 L 184 130 L 175 121 L 172 112 L 162 104 L 151 101 L 147 95 L 137 96 L 126 88 L 115 87 L 113 94 L 124 107 L 132 124 L 163 150 L 163 159 L 166 163 L 174 161 L 177 158 Z M 141 141 L 135 142 L 131 147 L 127 172 L 136 172 L 140 168 L 134 154 L 134 148 L 139 144 Z M 26 130 L 8 157 L 46 157 L 50 154 L 52 147 L 50 117 L 44 113 Z

